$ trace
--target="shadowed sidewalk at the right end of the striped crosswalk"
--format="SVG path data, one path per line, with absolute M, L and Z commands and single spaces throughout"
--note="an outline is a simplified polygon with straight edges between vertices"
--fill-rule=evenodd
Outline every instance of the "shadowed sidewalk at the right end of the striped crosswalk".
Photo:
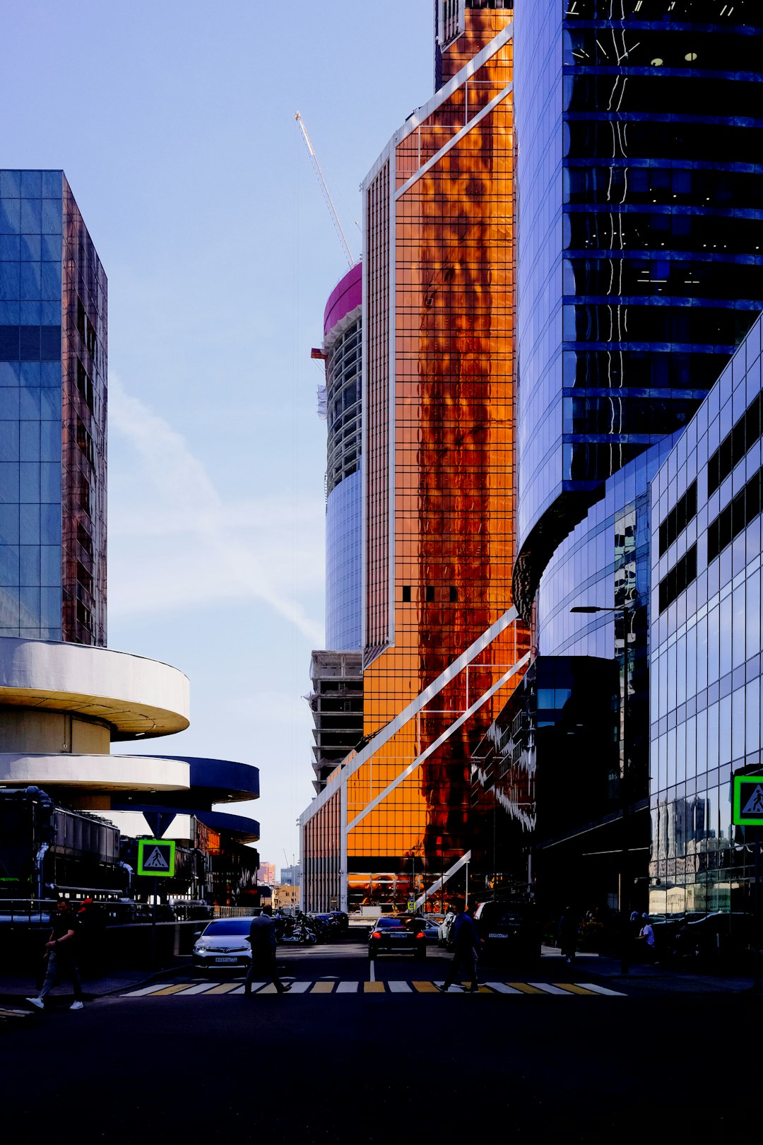
M 650 994 L 744 994 L 753 985 L 752 974 L 700 973 L 639 962 L 631 963 L 629 972 L 623 974 L 620 958 L 604 954 L 578 954 L 574 966 L 570 968 L 556 947 L 543 947 L 542 953 L 545 971 L 558 968 L 557 973 L 564 976 L 573 970 L 580 981 L 591 978 L 613 988 L 644 989 Z

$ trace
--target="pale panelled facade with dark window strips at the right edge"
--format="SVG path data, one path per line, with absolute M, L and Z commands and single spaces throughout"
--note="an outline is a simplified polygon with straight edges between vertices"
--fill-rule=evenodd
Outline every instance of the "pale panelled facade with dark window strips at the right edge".
M 758 317 L 651 488 L 653 911 L 752 910 L 731 776 L 763 747 L 761 334 Z

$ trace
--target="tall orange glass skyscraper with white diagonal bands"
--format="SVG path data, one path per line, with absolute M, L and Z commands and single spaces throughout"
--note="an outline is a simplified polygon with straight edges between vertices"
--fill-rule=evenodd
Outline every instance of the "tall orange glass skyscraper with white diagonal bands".
M 463 889 L 471 757 L 527 658 L 510 8 L 440 0 L 439 88 L 364 182 L 365 742 L 302 816 L 308 909 Z

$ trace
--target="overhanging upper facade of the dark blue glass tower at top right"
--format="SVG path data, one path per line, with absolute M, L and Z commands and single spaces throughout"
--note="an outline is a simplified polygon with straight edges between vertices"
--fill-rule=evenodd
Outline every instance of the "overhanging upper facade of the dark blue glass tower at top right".
M 517 5 L 524 615 L 603 482 L 688 423 L 763 305 L 762 29 L 750 2 Z

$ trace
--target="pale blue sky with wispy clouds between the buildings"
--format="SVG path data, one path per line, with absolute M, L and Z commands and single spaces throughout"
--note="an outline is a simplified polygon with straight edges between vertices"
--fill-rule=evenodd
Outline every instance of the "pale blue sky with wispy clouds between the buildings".
M 0 166 L 63 168 L 109 278 L 109 646 L 191 681 L 116 750 L 254 764 L 299 856 L 324 645 L 326 299 L 359 184 L 432 94 L 431 0 L 0 0 Z

